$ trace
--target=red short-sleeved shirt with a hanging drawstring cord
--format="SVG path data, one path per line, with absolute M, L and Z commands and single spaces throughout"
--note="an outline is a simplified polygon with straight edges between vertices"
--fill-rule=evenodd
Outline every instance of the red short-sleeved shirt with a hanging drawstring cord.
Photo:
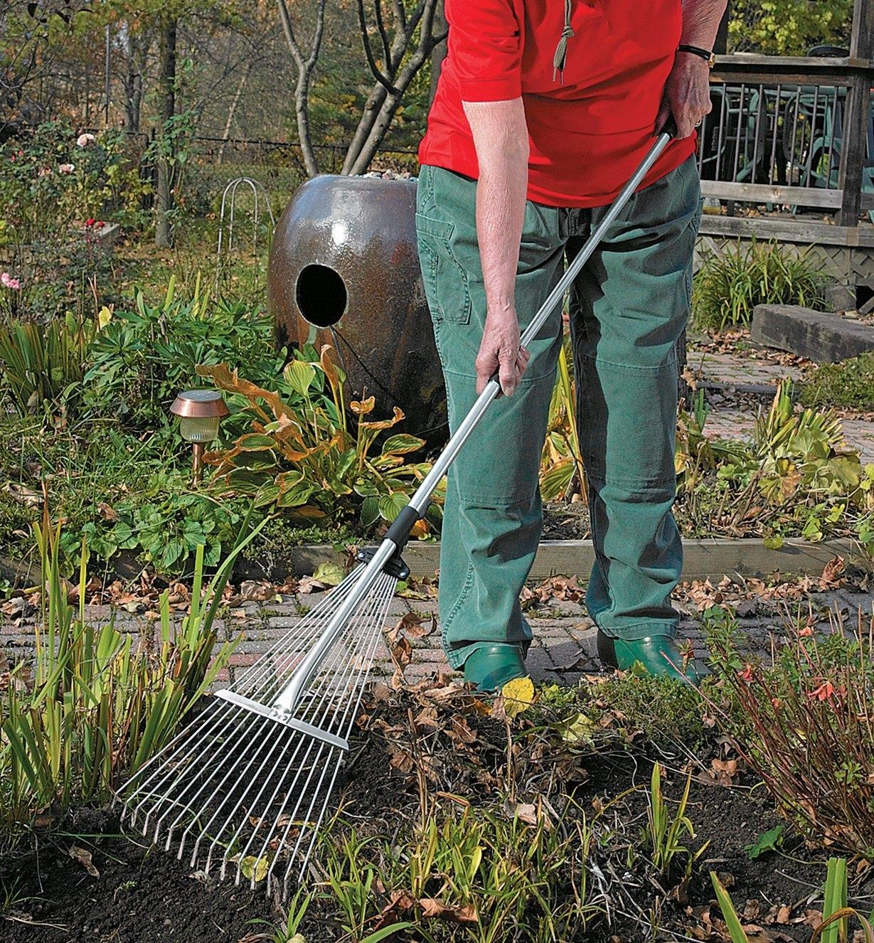
M 601 207 L 652 145 L 662 92 L 680 42 L 681 0 L 572 0 L 564 75 L 552 57 L 563 0 L 445 0 L 449 50 L 422 164 L 479 176 L 462 102 L 522 97 L 531 157 L 528 198 Z M 643 186 L 678 167 L 695 136 L 673 141 Z

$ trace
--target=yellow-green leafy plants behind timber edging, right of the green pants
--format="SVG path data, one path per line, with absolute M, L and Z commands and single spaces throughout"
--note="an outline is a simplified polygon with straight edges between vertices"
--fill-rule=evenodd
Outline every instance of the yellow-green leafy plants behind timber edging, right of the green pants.
M 710 532 L 731 536 L 821 540 L 849 533 L 869 543 L 874 465 L 863 468 L 847 449 L 832 412 L 796 411 L 791 393 L 791 383 L 778 384 L 751 442 L 706 437 L 702 397 L 693 415 L 681 414 L 675 454 L 680 519 L 706 518 Z

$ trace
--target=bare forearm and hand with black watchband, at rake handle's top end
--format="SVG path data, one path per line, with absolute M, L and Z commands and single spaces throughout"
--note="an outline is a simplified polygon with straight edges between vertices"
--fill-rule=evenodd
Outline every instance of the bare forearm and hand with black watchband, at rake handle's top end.
M 680 42 L 713 49 L 726 0 L 683 0 L 683 32 Z M 677 137 L 688 138 L 710 112 L 710 75 L 707 63 L 693 53 L 678 52 L 665 86 L 665 101 L 659 111 L 656 130 L 672 114 Z

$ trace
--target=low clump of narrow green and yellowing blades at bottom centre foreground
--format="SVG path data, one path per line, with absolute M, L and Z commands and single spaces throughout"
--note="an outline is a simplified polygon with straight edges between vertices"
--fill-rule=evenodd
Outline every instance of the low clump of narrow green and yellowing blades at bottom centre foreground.
M 367 934 L 392 920 L 395 931 L 415 926 L 427 940 L 499 943 L 508 927 L 533 943 L 569 939 L 598 912 L 580 867 L 592 833 L 585 817 L 569 825 L 545 809 L 535 815 L 436 810 L 403 855 L 388 838 L 329 832 L 321 852 L 326 897 L 352 939 L 382 938 Z

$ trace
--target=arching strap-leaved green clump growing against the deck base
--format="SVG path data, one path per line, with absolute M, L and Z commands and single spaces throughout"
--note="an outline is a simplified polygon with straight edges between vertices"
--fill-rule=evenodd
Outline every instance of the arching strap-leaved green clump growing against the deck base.
M 701 328 L 749 325 L 756 305 L 803 305 L 823 301 L 828 282 L 807 256 L 792 256 L 776 240 L 709 256 L 695 276 L 692 316 Z

